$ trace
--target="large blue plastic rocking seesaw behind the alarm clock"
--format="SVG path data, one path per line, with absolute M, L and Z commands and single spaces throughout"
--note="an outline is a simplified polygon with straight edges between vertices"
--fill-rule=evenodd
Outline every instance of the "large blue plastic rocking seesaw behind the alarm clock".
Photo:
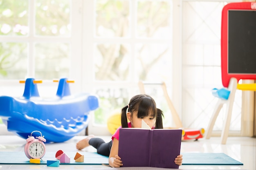
M 55 98 L 42 99 L 35 79 L 25 82 L 23 97 L 0 96 L 0 117 L 11 131 L 27 139 L 39 130 L 47 142 L 63 142 L 88 126 L 91 110 L 99 107 L 98 98 L 89 93 L 70 95 L 67 78 L 58 84 Z

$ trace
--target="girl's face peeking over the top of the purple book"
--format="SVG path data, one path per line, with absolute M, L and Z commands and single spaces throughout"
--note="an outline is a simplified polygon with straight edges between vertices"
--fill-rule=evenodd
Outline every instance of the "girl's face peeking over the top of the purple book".
M 131 122 L 132 128 L 141 128 L 141 121 L 142 119 L 145 121 L 145 123 L 152 129 L 152 127 L 155 125 L 155 118 L 153 116 L 147 116 L 147 117 L 137 117 L 137 113 L 131 114 L 130 112 L 127 113 L 127 118 Z

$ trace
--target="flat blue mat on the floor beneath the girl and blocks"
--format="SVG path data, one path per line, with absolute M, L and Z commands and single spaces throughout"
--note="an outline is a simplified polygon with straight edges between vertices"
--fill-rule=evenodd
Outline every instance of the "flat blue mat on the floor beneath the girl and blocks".
M 57 160 L 56 152 L 46 152 L 40 164 L 47 164 L 47 160 Z M 84 162 L 75 162 L 76 152 L 65 152 L 70 157 L 69 165 L 101 165 L 108 164 L 108 157 L 94 152 L 81 152 L 84 155 Z M 182 165 L 243 165 L 224 153 L 181 153 L 183 155 Z M 0 152 L 0 164 L 30 164 L 24 152 Z

